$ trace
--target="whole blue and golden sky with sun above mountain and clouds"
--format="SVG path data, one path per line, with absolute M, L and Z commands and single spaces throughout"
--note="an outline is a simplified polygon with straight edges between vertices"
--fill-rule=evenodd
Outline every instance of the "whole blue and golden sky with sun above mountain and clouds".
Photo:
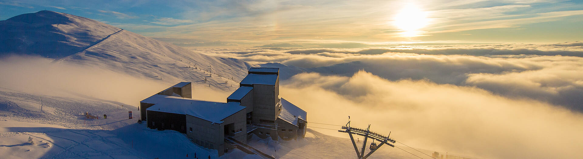
M 563 43 L 582 1 L 0 1 L 0 19 L 53 10 L 171 43 Z

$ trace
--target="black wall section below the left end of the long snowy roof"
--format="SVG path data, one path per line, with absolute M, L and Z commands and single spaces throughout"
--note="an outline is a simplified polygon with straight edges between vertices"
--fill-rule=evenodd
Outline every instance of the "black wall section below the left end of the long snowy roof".
M 147 127 L 158 130 L 175 130 L 186 133 L 186 115 L 170 112 L 147 111 Z

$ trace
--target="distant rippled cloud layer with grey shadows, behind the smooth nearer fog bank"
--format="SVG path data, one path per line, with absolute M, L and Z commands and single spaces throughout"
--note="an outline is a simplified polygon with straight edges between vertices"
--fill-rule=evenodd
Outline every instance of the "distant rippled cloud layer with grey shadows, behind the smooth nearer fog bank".
M 583 55 L 578 45 L 578 42 L 573 42 L 351 49 L 193 48 L 193 50 L 202 54 L 238 58 L 253 63 L 283 63 L 285 65 L 273 63 L 263 65 L 282 68 L 280 70 L 282 80 L 301 72 L 349 77 L 360 70 L 365 70 L 388 80 L 429 80 L 438 84 L 477 87 L 498 96 L 536 100 L 583 112 L 581 106 L 583 100 L 580 97 L 583 92 L 581 85 L 583 76 L 580 76 L 583 75 L 583 58 L 567 56 Z

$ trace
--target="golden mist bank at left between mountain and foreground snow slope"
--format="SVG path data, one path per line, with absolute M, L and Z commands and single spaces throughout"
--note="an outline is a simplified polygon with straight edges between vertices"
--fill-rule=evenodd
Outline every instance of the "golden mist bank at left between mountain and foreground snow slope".
M 0 59 L 0 87 L 46 96 L 99 98 L 138 106 L 167 83 L 33 56 Z M 147 86 L 147 87 L 145 87 Z

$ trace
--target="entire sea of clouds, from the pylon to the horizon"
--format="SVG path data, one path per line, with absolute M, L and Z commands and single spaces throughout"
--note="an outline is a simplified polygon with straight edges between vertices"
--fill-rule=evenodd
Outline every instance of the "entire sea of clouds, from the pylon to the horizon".
M 312 122 L 350 115 L 410 146 L 472 157 L 578 158 L 582 44 L 192 50 L 277 62 L 262 66 L 281 68 L 280 97 Z

